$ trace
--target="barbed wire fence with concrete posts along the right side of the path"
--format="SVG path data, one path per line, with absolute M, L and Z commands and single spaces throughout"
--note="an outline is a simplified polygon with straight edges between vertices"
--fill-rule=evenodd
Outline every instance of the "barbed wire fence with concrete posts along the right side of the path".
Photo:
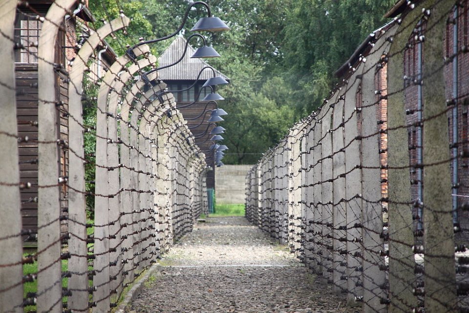
M 251 169 L 246 217 L 363 312 L 469 312 L 469 3 L 413 2 Z

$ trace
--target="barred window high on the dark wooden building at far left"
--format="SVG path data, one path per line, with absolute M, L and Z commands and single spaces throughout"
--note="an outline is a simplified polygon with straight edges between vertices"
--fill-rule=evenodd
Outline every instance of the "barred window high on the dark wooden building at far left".
M 19 11 L 15 21 L 15 42 L 24 48 L 15 50 L 15 62 L 38 63 L 38 43 L 42 22 L 37 14 Z

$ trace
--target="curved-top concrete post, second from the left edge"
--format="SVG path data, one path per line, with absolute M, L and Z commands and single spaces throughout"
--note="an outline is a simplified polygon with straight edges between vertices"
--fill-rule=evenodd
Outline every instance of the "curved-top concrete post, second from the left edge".
M 62 312 L 60 190 L 55 47 L 59 28 L 75 0 L 56 0 L 45 15 L 38 47 L 38 312 Z M 52 304 L 52 306 L 51 306 Z

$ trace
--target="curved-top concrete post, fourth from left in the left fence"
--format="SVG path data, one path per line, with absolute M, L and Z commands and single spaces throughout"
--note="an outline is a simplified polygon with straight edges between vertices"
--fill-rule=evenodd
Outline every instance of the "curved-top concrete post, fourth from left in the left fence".
M 110 235 L 112 235 L 112 237 L 116 235 L 116 238 L 120 237 L 119 232 L 117 231 L 117 229 L 120 228 L 118 194 L 120 187 L 119 173 L 117 168 L 119 161 L 116 161 L 116 158 L 118 157 L 118 154 L 116 153 L 117 97 L 127 80 L 135 71 L 148 66 L 150 63 L 154 63 L 155 60 L 155 57 L 153 57 L 153 60 L 146 58 L 139 60 L 137 64 L 128 67 L 128 71 L 122 74 L 117 82 L 117 73 L 119 72 L 119 69 L 122 69 L 125 64 L 117 64 L 115 68 L 111 67 L 113 70 L 117 69 L 117 72 L 111 72 L 110 70 L 107 72 L 105 78 L 103 79 L 104 84 L 101 85 L 98 93 L 98 110 L 96 117 L 96 197 L 94 221 L 94 253 L 97 256 L 94 261 L 96 275 L 93 278 L 93 285 L 96 286 L 97 290 L 94 292 L 93 297 L 97 303 L 97 310 L 102 310 L 103 312 L 109 310 L 110 307 L 110 286 L 113 285 L 112 287 L 117 288 L 117 285 L 113 281 L 121 281 L 119 277 L 120 271 L 117 271 L 116 267 L 113 267 L 111 270 L 109 266 L 111 262 L 117 262 L 117 257 L 120 255 L 120 253 L 117 253 L 117 250 L 116 252 L 112 252 L 113 260 L 111 260 L 109 252 L 109 248 L 112 247 L 110 246 Z M 113 91 L 111 92 L 108 100 L 108 93 L 111 90 L 111 87 Z M 110 170 L 112 168 L 115 168 L 115 170 Z M 109 225 L 109 222 L 114 223 L 111 223 L 113 225 Z M 117 234 L 111 234 L 110 230 L 112 230 L 114 233 L 117 232 Z M 117 242 L 118 241 L 116 239 L 112 240 L 114 245 L 116 245 Z M 112 248 L 117 249 L 118 247 L 114 246 Z

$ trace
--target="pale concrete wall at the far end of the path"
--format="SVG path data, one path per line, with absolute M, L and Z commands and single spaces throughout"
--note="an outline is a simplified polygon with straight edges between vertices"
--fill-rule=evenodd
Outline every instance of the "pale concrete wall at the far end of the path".
M 217 203 L 244 203 L 246 175 L 252 165 L 223 165 L 215 169 Z

